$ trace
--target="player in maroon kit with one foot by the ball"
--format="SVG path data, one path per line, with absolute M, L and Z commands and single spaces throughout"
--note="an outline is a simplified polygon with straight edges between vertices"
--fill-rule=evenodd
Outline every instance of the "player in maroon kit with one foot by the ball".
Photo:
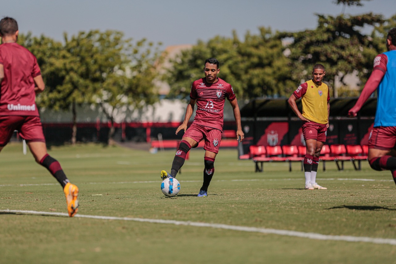
M 201 140 L 205 140 L 204 182 L 198 197 L 206 197 L 208 195 L 208 187 L 215 171 L 214 162 L 217 153 L 219 153 L 221 134 L 223 133 L 223 109 L 226 98 L 230 101 L 234 111 L 237 128 L 236 139 L 239 142 L 244 139 L 241 115 L 234 90 L 232 90 L 230 84 L 217 77 L 220 72 L 219 61 L 215 58 L 209 58 L 206 59 L 204 65 L 205 78 L 192 83 L 190 102 L 187 105 L 183 124 L 176 130 L 176 134 L 181 130 L 184 130 L 185 133 L 173 159 L 171 172 L 161 171 L 162 180 L 168 177 L 175 178 L 186 160 L 187 152 L 192 147 L 197 147 Z M 197 104 L 195 118 L 187 129 L 195 104 Z

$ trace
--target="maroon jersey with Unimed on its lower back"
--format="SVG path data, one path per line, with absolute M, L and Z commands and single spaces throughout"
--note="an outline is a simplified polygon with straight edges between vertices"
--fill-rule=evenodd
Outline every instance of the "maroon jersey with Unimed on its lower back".
M 0 63 L 4 66 L 0 115 L 39 116 L 33 78 L 41 72 L 36 57 L 17 43 L 4 43 L 0 45 Z

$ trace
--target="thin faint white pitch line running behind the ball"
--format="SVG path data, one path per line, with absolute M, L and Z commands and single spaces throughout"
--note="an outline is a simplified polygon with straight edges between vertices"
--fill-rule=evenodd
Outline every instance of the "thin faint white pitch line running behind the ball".
M 320 181 L 363 181 L 363 182 L 393 182 L 393 180 L 375 180 L 375 179 L 348 179 L 348 178 L 327 178 L 320 179 Z M 217 180 L 215 182 L 258 182 L 258 181 L 301 181 L 301 179 L 245 179 L 245 180 Z M 144 184 L 144 183 L 158 183 L 158 181 L 133 181 L 133 182 L 82 182 L 81 184 Z M 202 180 L 179 180 L 179 182 L 202 182 Z M 46 185 L 58 185 L 58 183 L 43 183 L 43 184 L 0 184 L 0 187 L 6 186 L 46 186 Z

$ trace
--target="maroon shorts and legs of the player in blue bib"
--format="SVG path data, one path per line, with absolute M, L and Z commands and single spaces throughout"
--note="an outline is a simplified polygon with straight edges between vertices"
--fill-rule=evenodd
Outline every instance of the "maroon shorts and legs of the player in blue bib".
M 396 184 L 396 127 L 375 127 L 369 139 L 367 160 L 373 170 L 390 170 Z

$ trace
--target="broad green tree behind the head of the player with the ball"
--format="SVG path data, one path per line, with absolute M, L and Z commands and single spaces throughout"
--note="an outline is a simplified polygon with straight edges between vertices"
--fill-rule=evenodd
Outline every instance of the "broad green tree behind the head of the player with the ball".
M 247 32 L 244 41 L 234 32 L 232 38 L 216 36 L 184 50 L 169 70 L 169 97 L 188 98 L 192 81 L 204 76 L 204 60 L 209 57 L 220 61 L 220 78 L 232 84 L 239 98 L 285 95 L 285 87 L 290 87 L 285 48 L 270 29 L 259 30 L 259 35 Z

